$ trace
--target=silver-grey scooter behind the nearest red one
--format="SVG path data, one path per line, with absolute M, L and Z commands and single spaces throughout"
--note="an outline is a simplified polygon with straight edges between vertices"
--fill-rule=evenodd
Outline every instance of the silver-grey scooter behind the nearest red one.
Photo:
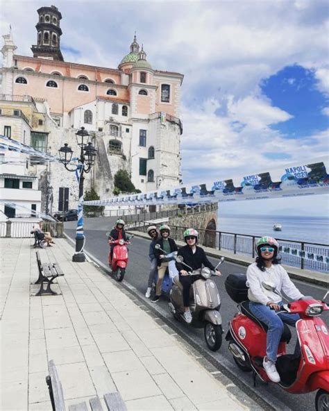
M 221 260 L 215 267 L 215 270 L 225 259 Z M 217 289 L 216 283 L 211 279 L 214 271 L 208 267 L 193 270 L 183 262 L 181 255 L 176 256 L 176 261 L 185 265 L 189 276 L 201 276 L 199 280 L 194 281 L 191 285 L 189 296 L 189 310 L 192 314 L 191 326 L 194 328 L 204 328 L 205 342 L 211 351 L 217 351 L 221 347 L 223 328 L 221 326 L 221 297 Z M 179 276 L 173 280 L 173 286 L 170 292 L 169 310 L 174 314 L 174 317 L 180 321 L 184 321 L 184 305 L 183 305 L 183 285 L 180 283 Z

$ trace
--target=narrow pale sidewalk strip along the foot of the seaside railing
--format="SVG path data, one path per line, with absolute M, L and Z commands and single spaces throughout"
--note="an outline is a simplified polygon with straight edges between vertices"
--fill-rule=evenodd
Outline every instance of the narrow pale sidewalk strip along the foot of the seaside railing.
M 150 240 L 149 235 L 146 233 L 143 233 L 142 231 L 130 230 L 130 233 L 132 233 L 133 235 L 136 235 L 137 237 L 142 237 L 142 238 L 145 238 L 146 240 Z M 185 246 L 185 242 L 183 241 L 175 240 L 175 242 L 178 246 Z M 210 247 L 205 247 L 205 246 L 202 246 L 202 248 L 205 250 L 205 253 L 207 255 L 210 255 L 211 257 L 214 257 L 214 258 L 225 257 L 226 261 L 235 262 L 236 264 L 239 264 L 239 265 L 248 266 L 252 262 L 255 262 L 255 258 L 252 258 L 249 255 L 234 254 L 233 252 L 230 252 L 230 251 L 217 250 L 217 249 L 212 249 Z M 296 280 L 302 280 L 307 283 L 319 284 L 323 287 L 328 287 L 329 285 L 329 274 L 322 273 L 320 271 L 312 271 L 309 269 L 300 269 L 298 267 L 292 267 L 291 265 L 285 265 L 285 264 L 282 264 L 282 267 L 285 267 L 289 276 L 291 278 L 296 278 Z

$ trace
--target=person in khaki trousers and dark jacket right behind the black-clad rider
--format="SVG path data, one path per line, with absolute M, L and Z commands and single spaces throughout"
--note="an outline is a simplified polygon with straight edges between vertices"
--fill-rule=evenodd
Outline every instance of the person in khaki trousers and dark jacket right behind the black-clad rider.
M 167 224 L 163 224 L 162 226 L 160 226 L 160 238 L 157 242 L 155 242 L 155 244 L 159 244 L 160 248 L 167 254 L 178 250 L 176 242 L 174 242 L 174 240 L 170 238 L 169 235 L 170 227 L 167 226 Z M 158 281 L 156 283 L 155 296 L 153 296 L 153 299 L 151 299 L 151 303 L 156 303 L 160 299 L 162 280 L 165 276 L 169 263 L 168 261 L 164 260 L 166 256 L 162 254 L 161 250 L 154 249 L 154 254 L 158 262 Z

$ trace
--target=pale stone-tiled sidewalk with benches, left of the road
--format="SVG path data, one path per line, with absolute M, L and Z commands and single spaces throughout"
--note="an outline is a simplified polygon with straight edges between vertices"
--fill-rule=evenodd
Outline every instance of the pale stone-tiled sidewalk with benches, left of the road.
M 32 243 L 0 239 L 2 411 L 51 410 L 49 360 L 67 408 L 119 391 L 128 410 L 261 409 L 230 381 L 223 385 L 219 371 L 205 369 L 193 349 L 92 262 L 71 262 L 66 240 L 39 250 L 42 262 L 58 262 L 65 273 L 53 287 L 62 295 L 31 296 L 39 288 L 30 285 L 37 279 Z

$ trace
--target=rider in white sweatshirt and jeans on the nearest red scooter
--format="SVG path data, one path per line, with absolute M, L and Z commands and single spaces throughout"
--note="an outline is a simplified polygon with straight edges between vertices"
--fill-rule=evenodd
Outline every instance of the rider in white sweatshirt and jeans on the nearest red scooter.
M 246 276 L 248 289 L 249 308 L 251 312 L 268 326 L 267 330 L 267 355 L 263 360 L 264 370 L 274 383 L 280 382 L 280 376 L 276 371 L 276 357 L 278 345 L 283 331 L 283 322 L 289 326 L 295 326 L 300 318 L 298 314 L 278 312 L 282 308 L 281 297 L 269 292 L 262 287 L 262 282 L 270 282 L 276 286 L 278 292 L 285 292 L 291 299 L 303 298 L 303 294 L 290 280 L 287 271 L 280 265 L 278 260 L 278 242 L 272 237 L 262 237 L 256 243 L 258 257 L 253 264 L 249 265 Z M 283 322 L 282 322 L 283 321 Z M 300 353 L 298 342 L 295 354 Z

